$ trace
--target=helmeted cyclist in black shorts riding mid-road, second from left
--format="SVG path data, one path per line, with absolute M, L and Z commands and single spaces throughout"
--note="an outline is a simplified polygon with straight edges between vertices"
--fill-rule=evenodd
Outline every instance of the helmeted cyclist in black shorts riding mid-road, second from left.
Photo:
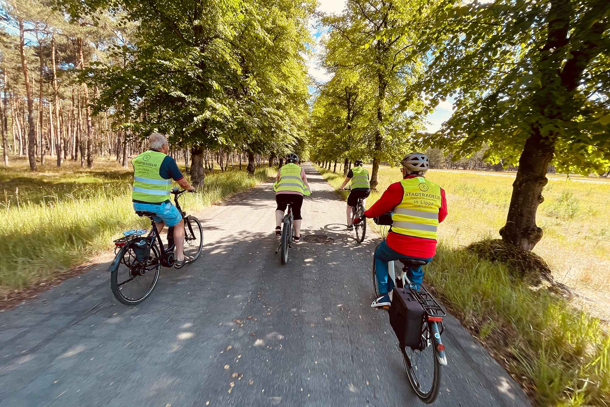
M 311 195 L 309 183 L 305 171 L 298 165 L 299 156 L 294 153 L 288 154 L 286 164 L 278 171 L 273 190 L 276 192 L 275 201 L 278 204 L 275 210 L 275 234 L 280 236 L 282 230 L 282 218 L 288 204 L 292 207 L 294 217 L 294 236 L 293 240 L 298 242 L 301 239 L 301 206 L 303 205 L 303 195 Z

